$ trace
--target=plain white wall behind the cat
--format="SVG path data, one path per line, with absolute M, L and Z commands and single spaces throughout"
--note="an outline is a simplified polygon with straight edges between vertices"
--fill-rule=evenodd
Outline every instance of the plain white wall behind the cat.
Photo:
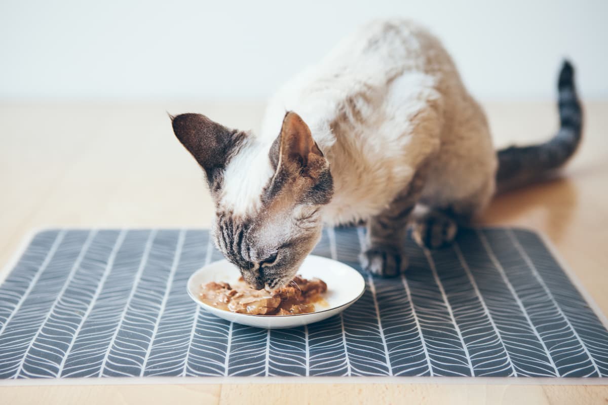
M 608 97 L 608 0 L 1 0 L 0 98 L 260 98 L 362 22 L 407 16 L 485 98 Z

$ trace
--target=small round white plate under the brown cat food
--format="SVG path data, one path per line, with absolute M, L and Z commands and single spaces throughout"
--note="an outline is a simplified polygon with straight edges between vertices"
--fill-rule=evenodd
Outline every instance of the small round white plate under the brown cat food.
M 350 307 L 365 291 L 365 281 L 358 271 L 344 263 L 326 257 L 313 255 L 306 257 L 298 274 L 307 279 L 318 277 L 326 282 L 327 292 L 323 294 L 323 299 L 327 302 L 326 306 L 315 304 L 315 311 L 311 313 L 276 316 L 234 313 L 205 304 L 198 299 L 202 284 L 207 284 L 210 281 L 223 281 L 232 284 L 241 276 L 237 267 L 227 260 L 213 262 L 196 271 L 190 276 L 187 288 L 190 297 L 213 315 L 238 324 L 258 328 L 292 328 L 322 321 Z

